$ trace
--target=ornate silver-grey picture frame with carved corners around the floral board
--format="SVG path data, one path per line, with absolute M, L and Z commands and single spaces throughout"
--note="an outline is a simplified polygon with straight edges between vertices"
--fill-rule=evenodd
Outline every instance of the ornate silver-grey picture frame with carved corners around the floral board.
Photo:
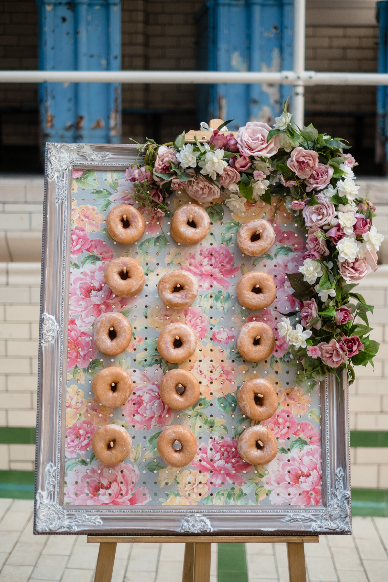
M 322 506 L 65 505 L 66 350 L 73 170 L 118 171 L 131 145 L 47 144 L 34 531 L 36 534 L 349 534 L 348 386 L 321 384 Z M 156 471 L 155 471 L 156 472 Z

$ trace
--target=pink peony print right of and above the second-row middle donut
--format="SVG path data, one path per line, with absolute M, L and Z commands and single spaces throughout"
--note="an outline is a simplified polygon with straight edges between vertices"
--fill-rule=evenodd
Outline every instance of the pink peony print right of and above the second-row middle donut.
M 234 255 L 227 247 L 204 247 L 182 253 L 185 264 L 181 269 L 199 277 L 199 288 L 205 291 L 213 286 L 228 289 L 231 283 L 227 278 L 237 277 L 239 267 L 234 267 Z

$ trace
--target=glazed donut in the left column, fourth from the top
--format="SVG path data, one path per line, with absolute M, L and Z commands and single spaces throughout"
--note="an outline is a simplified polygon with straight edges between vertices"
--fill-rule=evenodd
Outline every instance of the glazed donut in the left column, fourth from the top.
M 110 365 L 97 372 L 91 381 L 91 389 L 98 402 L 117 408 L 126 403 L 133 390 L 132 378 L 122 368 Z

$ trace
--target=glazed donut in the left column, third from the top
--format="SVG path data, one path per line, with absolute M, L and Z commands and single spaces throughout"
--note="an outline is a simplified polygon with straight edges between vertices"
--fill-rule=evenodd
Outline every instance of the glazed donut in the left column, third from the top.
M 103 313 L 94 322 L 94 343 L 98 352 L 118 356 L 129 346 L 131 339 L 132 328 L 122 313 Z

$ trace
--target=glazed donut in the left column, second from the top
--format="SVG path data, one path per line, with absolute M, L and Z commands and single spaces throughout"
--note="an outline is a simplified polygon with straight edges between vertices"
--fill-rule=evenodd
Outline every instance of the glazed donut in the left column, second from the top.
M 134 258 L 114 258 L 104 271 L 105 283 L 119 297 L 133 297 L 144 287 L 144 271 Z

